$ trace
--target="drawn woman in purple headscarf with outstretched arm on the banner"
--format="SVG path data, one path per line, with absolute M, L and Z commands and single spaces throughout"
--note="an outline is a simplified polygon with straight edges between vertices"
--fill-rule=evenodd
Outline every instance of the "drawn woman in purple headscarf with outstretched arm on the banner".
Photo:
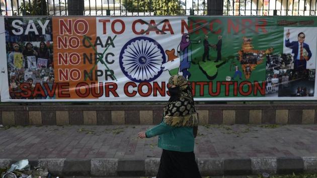
M 191 43 L 193 42 L 193 43 Z M 182 40 L 180 43 L 180 50 L 178 52 L 180 53 L 180 72 L 183 72 L 183 76 L 188 79 L 191 76 L 191 73 L 188 71 L 190 68 L 190 63 L 192 61 L 192 55 L 191 55 L 191 45 L 190 44 L 198 44 L 199 41 L 194 41 L 189 39 L 189 34 L 185 33 L 182 36 Z

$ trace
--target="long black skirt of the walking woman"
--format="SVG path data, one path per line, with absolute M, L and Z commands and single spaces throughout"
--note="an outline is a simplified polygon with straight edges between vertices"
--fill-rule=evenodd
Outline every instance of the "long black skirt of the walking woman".
M 163 149 L 156 178 L 201 178 L 194 152 Z

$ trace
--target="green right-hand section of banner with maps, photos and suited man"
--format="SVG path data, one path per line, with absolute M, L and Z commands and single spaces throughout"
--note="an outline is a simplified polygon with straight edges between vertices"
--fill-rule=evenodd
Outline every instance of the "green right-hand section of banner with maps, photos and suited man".
M 196 98 L 314 97 L 312 19 L 190 17 L 188 72 Z

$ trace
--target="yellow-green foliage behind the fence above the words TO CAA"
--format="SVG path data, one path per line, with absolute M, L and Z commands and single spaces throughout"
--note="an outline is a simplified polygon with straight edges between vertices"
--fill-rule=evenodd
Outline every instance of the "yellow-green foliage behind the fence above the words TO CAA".
M 185 10 L 177 0 L 126 0 L 122 1 L 123 6 L 128 12 L 132 13 L 154 13 L 158 16 L 166 15 L 185 15 Z

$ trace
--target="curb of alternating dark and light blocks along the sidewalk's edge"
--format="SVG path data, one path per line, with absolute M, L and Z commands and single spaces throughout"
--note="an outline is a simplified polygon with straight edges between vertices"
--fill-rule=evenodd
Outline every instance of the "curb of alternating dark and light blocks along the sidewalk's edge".
M 0 168 L 18 160 L 0 159 Z M 317 172 L 317 157 L 246 157 L 197 158 L 202 176 L 291 174 Z M 33 166 L 47 167 L 58 176 L 155 176 L 160 158 L 147 159 L 38 159 L 29 160 Z

